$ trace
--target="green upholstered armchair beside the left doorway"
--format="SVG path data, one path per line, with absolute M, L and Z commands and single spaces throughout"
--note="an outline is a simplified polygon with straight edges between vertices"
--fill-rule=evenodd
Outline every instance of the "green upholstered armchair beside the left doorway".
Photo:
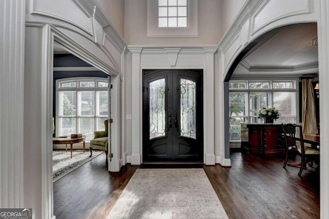
M 107 149 L 107 144 L 108 144 L 108 135 L 107 135 L 107 127 L 108 127 L 108 119 L 106 119 L 104 121 L 104 125 L 105 125 L 105 131 L 96 131 L 94 132 L 94 138 L 93 140 L 90 141 L 90 157 L 93 155 L 93 149 L 99 149 L 99 150 L 103 150 L 105 151 L 105 155 L 106 155 L 106 167 L 108 164 L 108 159 L 107 159 L 107 153 L 108 153 L 108 149 Z

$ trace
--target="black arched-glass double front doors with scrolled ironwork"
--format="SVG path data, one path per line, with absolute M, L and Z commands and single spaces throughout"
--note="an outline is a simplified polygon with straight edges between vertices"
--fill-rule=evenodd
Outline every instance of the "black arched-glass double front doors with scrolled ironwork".
M 143 71 L 143 162 L 203 162 L 202 75 Z

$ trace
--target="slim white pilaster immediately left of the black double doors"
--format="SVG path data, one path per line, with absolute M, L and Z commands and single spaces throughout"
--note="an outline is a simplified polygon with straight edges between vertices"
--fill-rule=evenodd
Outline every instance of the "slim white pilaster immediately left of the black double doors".
M 140 165 L 142 145 L 142 120 L 141 120 L 141 69 L 140 53 L 142 48 L 129 48 L 132 53 L 132 156 L 131 164 Z

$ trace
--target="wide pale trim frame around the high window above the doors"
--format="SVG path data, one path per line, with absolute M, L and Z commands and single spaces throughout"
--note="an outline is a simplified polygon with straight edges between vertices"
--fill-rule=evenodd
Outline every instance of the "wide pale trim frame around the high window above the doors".
M 187 0 L 187 27 L 158 27 L 158 0 L 148 0 L 147 37 L 198 37 L 198 0 Z

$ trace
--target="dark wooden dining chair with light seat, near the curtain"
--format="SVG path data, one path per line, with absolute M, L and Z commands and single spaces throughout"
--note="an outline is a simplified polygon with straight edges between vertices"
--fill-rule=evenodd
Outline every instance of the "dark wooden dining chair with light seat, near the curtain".
M 320 150 L 304 144 L 301 125 L 282 124 L 282 131 L 285 140 L 285 161 L 283 168 L 286 168 L 287 165 L 290 167 L 299 167 L 298 175 L 300 176 L 308 162 L 314 161 L 319 165 Z M 299 137 L 296 136 L 296 133 L 299 133 Z M 301 157 L 300 163 L 288 163 L 289 154 L 292 152 Z

